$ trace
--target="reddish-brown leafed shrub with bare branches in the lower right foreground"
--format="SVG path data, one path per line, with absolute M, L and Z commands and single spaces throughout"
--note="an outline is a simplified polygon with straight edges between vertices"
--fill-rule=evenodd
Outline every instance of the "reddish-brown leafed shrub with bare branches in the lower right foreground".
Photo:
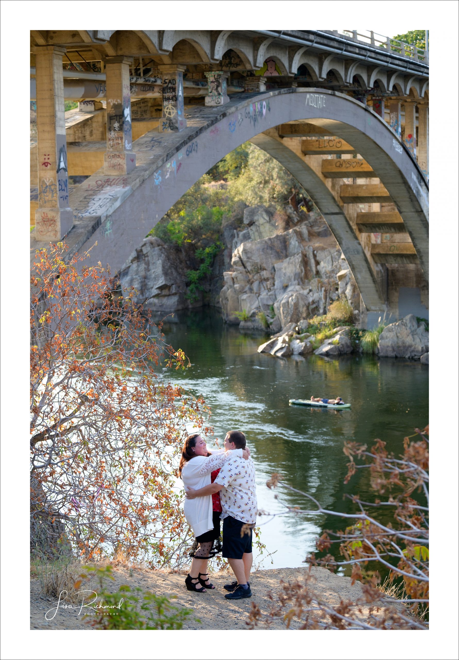
M 264 619 L 266 622 L 279 618 L 286 611 L 284 618 L 288 624 L 297 618 L 303 629 L 425 630 L 429 604 L 428 434 L 428 426 L 423 431 L 415 429 L 413 436 L 404 438 L 404 450 L 398 458 L 388 453 L 382 440 L 375 440 L 371 451 L 367 451 L 366 445 L 344 442 L 343 451 L 349 458 L 344 482 L 348 483 L 357 470 L 368 470 L 371 487 L 378 494 L 375 502 L 363 502 L 358 495 L 348 495 L 356 508 L 352 513 L 325 510 L 313 496 L 292 488 L 280 475 L 272 475 L 267 482 L 269 488 L 282 484 L 284 488 L 305 496 L 315 506 L 313 511 L 301 510 L 298 506 L 287 507 L 292 512 L 319 512 L 350 521 L 344 531 L 324 531 L 316 542 L 320 558 L 311 553 L 305 561 L 310 566 L 324 566 L 331 571 L 352 566 L 352 584 L 358 579 L 363 582 L 363 587 L 361 599 L 332 607 L 315 591 L 311 576 L 303 584 L 282 583 L 278 603 Z M 413 441 L 413 437 L 416 440 Z M 421 502 L 414 498 L 416 493 Z M 382 524 L 371 513 L 372 509 L 378 508 L 393 510 L 394 522 Z M 330 552 L 332 546 L 336 548 L 334 554 Z M 368 568 L 369 564 L 374 568 Z M 390 581 L 401 581 L 404 598 L 394 601 L 383 591 L 375 589 L 382 569 L 388 570 Z M 406 603 L 405 609 L 400 608 L 402 603 Z M 256 606 L 249 618 L 252 626 L 262 619 Z

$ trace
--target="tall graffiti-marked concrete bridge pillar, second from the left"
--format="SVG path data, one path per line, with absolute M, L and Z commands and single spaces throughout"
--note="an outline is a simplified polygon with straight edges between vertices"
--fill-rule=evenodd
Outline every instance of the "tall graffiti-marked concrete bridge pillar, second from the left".
M 135 168 L 129 83 L 131 63 L 132 57 L 124 55 L 106 59 L 107 151 L 104 172 L 111 176 L 129 174 Z

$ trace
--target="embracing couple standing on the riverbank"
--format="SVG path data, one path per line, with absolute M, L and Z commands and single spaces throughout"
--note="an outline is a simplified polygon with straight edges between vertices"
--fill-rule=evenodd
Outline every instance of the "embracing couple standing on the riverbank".
M 183 445 L 179 475 L 186 490 L 185 518 L 195 533 L 190 552 L 191 569 L 185 579 L 189 591 L 214 589 L 208 579 L 207 562 L 222 550 L 235 574 L 224 585 L 225 598 L 249 598 L 253 562 L 252 530 L 257 521 L 255 465 L 241 431 L 229 431 L 224 449 L 206 446 L 199 434 L 188 436 Z M 223 546 L 220 546 L 223 519 Z

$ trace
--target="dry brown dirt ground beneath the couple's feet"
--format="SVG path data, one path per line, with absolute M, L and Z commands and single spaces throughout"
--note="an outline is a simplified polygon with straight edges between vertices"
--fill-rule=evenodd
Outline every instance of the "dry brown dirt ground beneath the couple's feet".
M 119 567 L 113 569 L 115 581 L 111 583 L 110 590 L 116 591 L 117 587 L 127 584 L 131 587 L 142 587 L 150 590 L 156 595 L 176 595 L 171 601 L 174 605 L 191 607 L 195 616 L 200 618 L 200 623 L 193 620 L 185 622 L 183 630 L 247 630 L 247 615 L 251 610 L 252 601 L 257 603 L 260 611 L 267 614 L 272 601 L 266 593 L 280 591 L 279 581 L 300 579 L 307 572 L 307 568 L 282 568 L 278 570 L 258 570 L 253 572 L 251 579 L 252 597 L 247 600 L 228 601 L 224 598 L 227 593 L 223 585 L 232 581 L 232 577 L 224 574 L 212 576 L 212 582 L 216 589 L 205 593 L 193 593 L 185 589 L 185 576 L 177 573 L 151 570 L 133 570 L 133 576 L 129 576 L 129 568 Z M 315 578 L 315 589 L 322 594 L 330 605 L 338 604 L 340 600 L 356 599 L 361 596 L 361 585 L 356 582 L 351 586 L 351 579 L 336 576 L 324 568 L 313 568 L 311 573 Z M 97 587 L 95 587 L 97 591 Z M 30 628 L 41 630 L 92 630 L 79 615 L 77 609 L 59 608 L 54 618 L 47 621 L 45 614 L 50 609 L 52 616 L 57 606 L 57 598 L 48 598 L 42 593 L 38 579 L 32 579 L 30 587 Z M 299 624 L 293 624 L 291 628 L 297 628 Z M 276 622 L 270 626 L 272 630 L 284 630 L 283 622 Z

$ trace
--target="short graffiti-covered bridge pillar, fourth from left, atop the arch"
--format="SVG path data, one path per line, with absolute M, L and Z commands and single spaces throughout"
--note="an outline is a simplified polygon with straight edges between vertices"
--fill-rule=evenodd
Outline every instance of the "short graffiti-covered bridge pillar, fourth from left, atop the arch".
M 158 67 L 162 75 L 162 116 L 158 131 L 175 133 L 187 127 L 183 104 L 183 64 L 163 64 Z

